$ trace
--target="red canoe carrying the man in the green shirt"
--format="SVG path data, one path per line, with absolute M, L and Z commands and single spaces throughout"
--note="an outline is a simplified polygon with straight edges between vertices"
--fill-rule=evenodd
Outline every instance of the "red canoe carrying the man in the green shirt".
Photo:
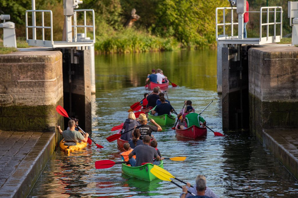
M 180 137 L 187 137 L 191 139 L 198 139 L 204 136 L 207 136 L 207 128 L 200 128 L 195 125 L 187 128 L 187 129 L 179 129 L 179 124 L 176 126 L 176 134 Z

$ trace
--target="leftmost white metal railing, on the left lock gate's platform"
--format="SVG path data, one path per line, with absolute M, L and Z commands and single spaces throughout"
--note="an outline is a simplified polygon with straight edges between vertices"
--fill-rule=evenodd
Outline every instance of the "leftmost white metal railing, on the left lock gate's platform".
M 35 14 L 35 12 L 41 12 L 41 26 L 28 26 L 28 12 L 33 12 Z M 49 12 L 50 13 L 50 26 L 44 26 L 44 12 Z M 53 13 L 52 10 L 26 10 L 26 40 L 28 41 L 28 28 L 32 28 L 33 32 L 36 32 L 36 28 L 41 28 L 42 29 L 42 40 L 45 41 L 44 39 L 44 29 L 51 29 L 51 42 L 52 44 L 54 43 L 53 41 Z M 36 24 L 36 18 L 34 19 L 34 24 Z M 33 40 L 36 41 L 36 35 L 35 38 L 33 38 Z

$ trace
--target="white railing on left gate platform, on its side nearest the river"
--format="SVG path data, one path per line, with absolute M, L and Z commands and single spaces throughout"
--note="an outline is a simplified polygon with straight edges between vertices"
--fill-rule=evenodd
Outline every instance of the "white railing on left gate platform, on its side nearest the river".
M 77 12 L 84 12 L 84 25 L 77 25 Z M 86 12 L 92 12 L 92 26 L 87 26 L 86 21 Z M 95 43 L 95 18 L 94 18 L 94 9 L 77 9 L 74 12 L 74 34 L 75 34 L 75 42 L 77 41 L 77 28 L 84 28 L 85 39 L 87 39 L 87 28 L 93 29 L 93 42 Z

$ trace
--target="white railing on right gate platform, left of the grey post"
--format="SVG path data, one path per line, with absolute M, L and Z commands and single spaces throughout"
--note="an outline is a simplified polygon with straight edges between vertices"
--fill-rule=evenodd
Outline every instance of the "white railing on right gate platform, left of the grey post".
M 231 23 L 226 23 L 226 9 L 231 10 Z M 216 40 L 219 39 L 233 39 L 234 37 L 234 25 L 238 25 L 238 23 L 234 22 L 234 16 L 233 16 L 233 10 L 236 9 L 236 7 L 218 7 L 216 8 L 215 12 L 215 34 L 216 34 Z M 218 10 L 223 10 L 223 23 L 218 23 Z M 231 37 L 226 37 L 226 26 L 231 25 Z M 224 36 L 223 37 L 218 37 L 218 26 L 224 26 Z

